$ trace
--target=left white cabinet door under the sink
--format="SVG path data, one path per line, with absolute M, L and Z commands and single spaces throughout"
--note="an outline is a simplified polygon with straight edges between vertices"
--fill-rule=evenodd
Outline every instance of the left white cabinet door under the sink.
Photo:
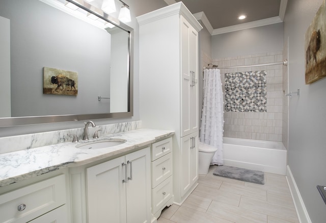
M 127 222 L 125 157 L 87 168 L 88 222 Z

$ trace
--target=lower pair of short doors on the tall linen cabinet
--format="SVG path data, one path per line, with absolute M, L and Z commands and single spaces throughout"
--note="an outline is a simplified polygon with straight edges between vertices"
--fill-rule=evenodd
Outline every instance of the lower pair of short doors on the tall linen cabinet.
M 198 132 L 181 138 L 181 196 L 198 180 Z

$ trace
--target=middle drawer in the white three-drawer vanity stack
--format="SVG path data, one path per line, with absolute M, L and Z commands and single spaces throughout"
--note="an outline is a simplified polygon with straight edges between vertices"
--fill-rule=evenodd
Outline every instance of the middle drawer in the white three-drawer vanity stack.
M 172 175 L 172 153 L 152 162 L 152 188 Z

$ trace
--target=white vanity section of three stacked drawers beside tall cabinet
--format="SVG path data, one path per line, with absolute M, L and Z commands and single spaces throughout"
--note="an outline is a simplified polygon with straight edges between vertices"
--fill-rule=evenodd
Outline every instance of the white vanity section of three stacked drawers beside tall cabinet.
M 151 154 L 152 214 L 158 218 L 173 203 L 172 138 L 153 143 Z

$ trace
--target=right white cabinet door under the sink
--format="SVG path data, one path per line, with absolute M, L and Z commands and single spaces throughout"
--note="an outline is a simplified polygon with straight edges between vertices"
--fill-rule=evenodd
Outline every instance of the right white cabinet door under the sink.
M 127 154 L 125 160 L 128 165 L 127 222 L 151 222 L 150 148 Z

